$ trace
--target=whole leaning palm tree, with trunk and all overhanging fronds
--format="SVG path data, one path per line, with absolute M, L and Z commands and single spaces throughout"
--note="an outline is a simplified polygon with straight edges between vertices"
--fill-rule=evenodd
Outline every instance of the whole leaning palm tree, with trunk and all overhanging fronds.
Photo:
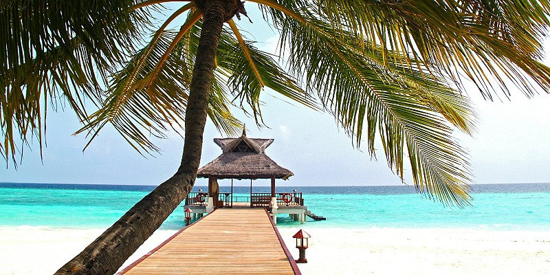
M 173 177 L 58 274 L 118 270 L 190 192 L 206 118 L 232 134 L 240 122 L 230 107 L 239 102 L 261 124 L 264 87 L 329 111 L 358 146 L 366 140 L 371 155 L 378 136 L 397 175 L 404 176 L 408 156 L 419 192 L 463 206 L 470 172 L 452 131 L 472 133 L 475 124 L 463 79 L 489 99 L 494 86 L 507 94 L 508 80 L 527 96 L 533 86 L 550 86 L 550 69 L 538 61 L 550 25 L 546 0 L 250 1 L 280 32 L 286 69 L 241 34 L 233 21 L 246 16 L 241 1 L 80 2 L 0 4 L 6 162 L 17 163 L 18 138 L 42 144 L 45 102 L 59 96 L 83 120 L 78 133 L 91 134 L 90 141 L 111 124 L 148 153 L 157 150 L 148 135 L 181 127 L 184 153 Z M 155 25 L 165 2 L 184 3 Z M 167 30 L 182 16 L 179 31 Z M 153 28 L 144 43 L 142 34 Z M 89 114 L 89 105 L 97 111 Z

